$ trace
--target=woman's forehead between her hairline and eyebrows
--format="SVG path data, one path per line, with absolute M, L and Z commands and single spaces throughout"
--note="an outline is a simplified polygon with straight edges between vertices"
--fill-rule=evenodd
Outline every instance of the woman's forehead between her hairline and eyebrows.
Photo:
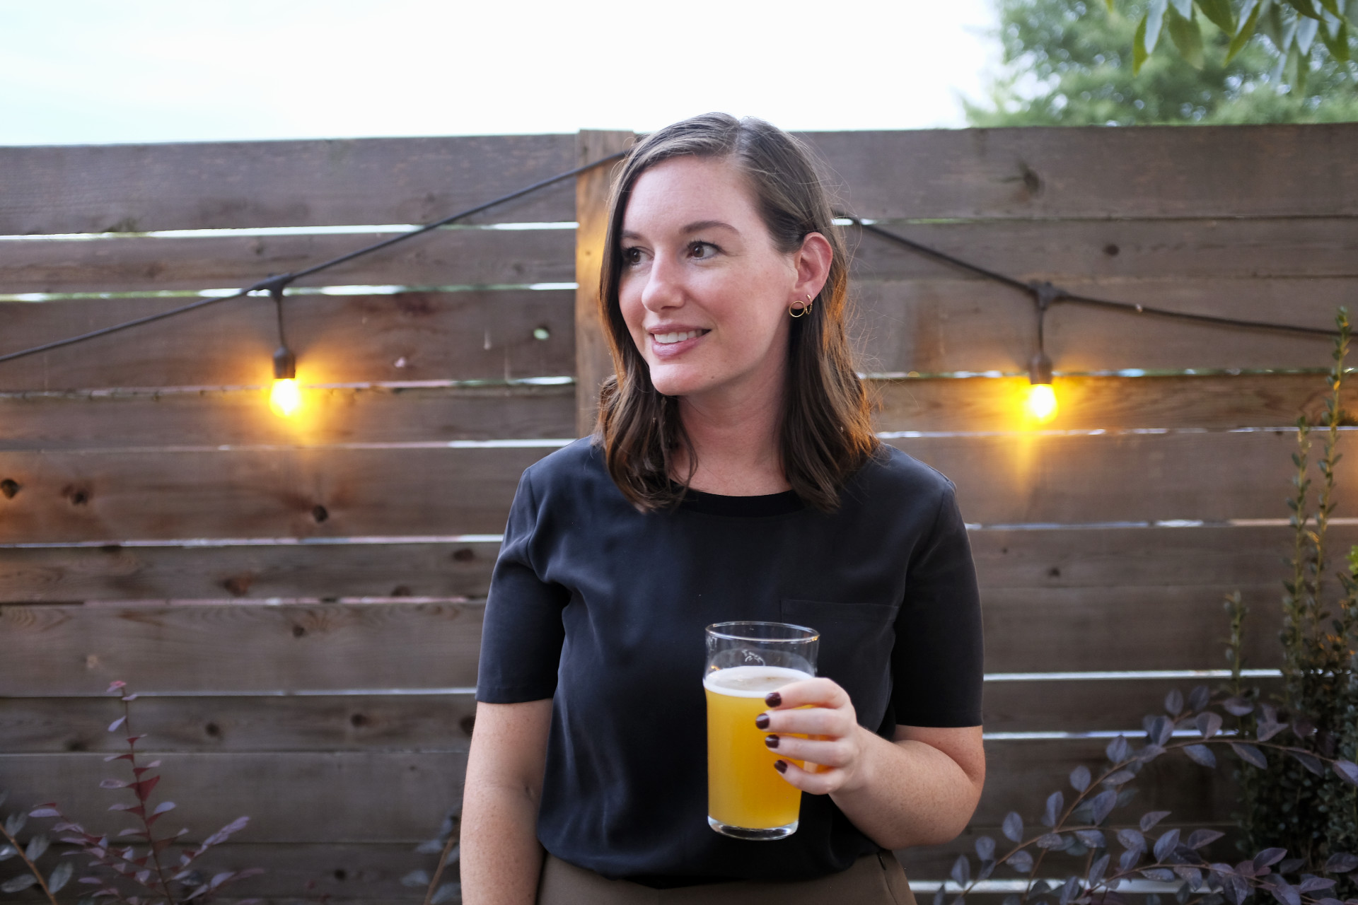
M 631 186 L 623 229 L 650 232 L 720 220 L 737 229 L 759 221 L 746 178 L 716 157 L 675 157 L 650 167 Z

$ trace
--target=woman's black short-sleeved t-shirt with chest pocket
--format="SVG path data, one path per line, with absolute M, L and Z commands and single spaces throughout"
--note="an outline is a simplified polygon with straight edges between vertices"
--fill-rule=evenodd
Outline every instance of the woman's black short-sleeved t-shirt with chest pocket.
M 792 493 L 689 491 L 640 513 L 580 440 L 519 483 L 490 582 L 477 700 L 553 697 L 538 839 L 557 858 L 652 886 L 809 879 L 879 847 L 828 795 L 797 832 L 708 826 L 705 636 L 767 620 L 820 632 L 818 673 L 858 722 L 980 725 L 980 604 L 941 474 L 883 446 L 822 513 Z

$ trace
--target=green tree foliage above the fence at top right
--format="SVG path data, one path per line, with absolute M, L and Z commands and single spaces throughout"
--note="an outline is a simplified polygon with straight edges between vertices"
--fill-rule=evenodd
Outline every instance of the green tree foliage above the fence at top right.
M 1358 0 L 997 3 L 975 126 L 1358 121 Z

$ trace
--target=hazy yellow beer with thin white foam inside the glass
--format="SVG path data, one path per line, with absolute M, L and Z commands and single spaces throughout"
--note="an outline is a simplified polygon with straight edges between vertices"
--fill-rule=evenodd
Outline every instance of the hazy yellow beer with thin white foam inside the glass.
M 769 710 L 765 695 L 811 677 L 779 666 L 733 666 L 703 680 L 709 818 L 741 829 L 796 829 L 801 790 L 774 769 L 778 753 L 765 745 L 766 733 L 755 726 L 755 716 Z M 801 761 L 792 763 L 801 767 Z

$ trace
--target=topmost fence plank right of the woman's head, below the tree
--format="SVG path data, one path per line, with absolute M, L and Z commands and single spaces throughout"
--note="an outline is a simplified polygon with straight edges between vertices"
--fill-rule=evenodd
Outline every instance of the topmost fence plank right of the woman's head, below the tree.
M 805 133 L 861 217 L 1358 213 L 1358 126 Z M 1241 187 L 1248 186 L 1248 191 Z

